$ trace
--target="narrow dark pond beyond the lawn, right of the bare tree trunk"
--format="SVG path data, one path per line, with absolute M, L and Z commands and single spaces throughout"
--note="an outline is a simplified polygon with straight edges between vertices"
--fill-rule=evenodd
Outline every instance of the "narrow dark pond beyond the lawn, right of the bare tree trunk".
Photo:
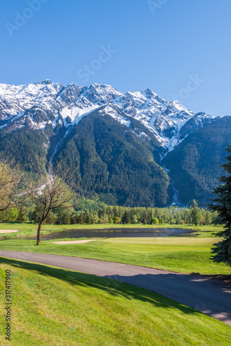
M 192 230 L 181 228 L 113 228 L 98 230 L 63 230 L 59 233 L 50 233 L 41 236 L 41 240 L 52 240 L 58 238 L 114 238 L 114 237 L 185 237 L 189 236 Z M 31 239 L 31 238 L 30 238 Z M 33 238 L 35 239 L 35 238 Z

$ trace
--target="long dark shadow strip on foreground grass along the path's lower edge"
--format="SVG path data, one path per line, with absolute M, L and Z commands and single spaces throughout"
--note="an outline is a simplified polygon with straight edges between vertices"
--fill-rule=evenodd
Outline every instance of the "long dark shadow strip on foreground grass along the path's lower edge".
M 98 277 L 91 274 L 79 273 L 62 268 L 51 268 L 42 264 L 32 264 L 21 260 L 10 260 L 0 257 L 0 264 L 9 264 L 15 268 L 22 268 L 26 271 L 33 271 L 38 275 L 45 275 L 48 277 L 55 277 L 59 280 L 64 280 L 73 286 L 89 286 L 94 289 L 102 290 L 113 296 L 123 296 L 128 300 L 140 300 L 153 304 L 154 307 L 172 308 L 186 314 L 198 313 L 197 309 L 186 307 L 185 305 L 175 302 L 169 298 L 164 297 L 158 293 L 141 289 L 131 284 L 118 282 L 114 280 L 116 277 L 121 280 L 122 276 L 114 275 L 115 277 Z M 142 275 L 143 276 L 143 275 Z

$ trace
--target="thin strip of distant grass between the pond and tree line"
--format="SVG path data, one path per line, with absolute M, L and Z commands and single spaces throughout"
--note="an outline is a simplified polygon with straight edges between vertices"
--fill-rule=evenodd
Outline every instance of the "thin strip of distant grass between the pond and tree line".
M 48 233 L 59 233 L 62 230 L 88 230 L 88 229 L 107 229 L 107 228 L 154 228 L 153 225 L 143 225 L 143 224 L 91 224 L 91 225 L 44 225 L 41 228 L 41 235 Z M 194 230 L 194 236 L 196 237 L 212 237 L 212 233 L 216 233 L 222 230 L 222 226 L 192 226 L 192 225 L 157 225 L 157 230 L 162 228 L 182 228 L 185 230 Z M 15 234 L 0 234 L 0 239 L 9 238 L 24 238 L 24 237 L 35 237 L 37 233 L 37 225 L 34 224 L 0 224 L 0 230 L 19 230 Z

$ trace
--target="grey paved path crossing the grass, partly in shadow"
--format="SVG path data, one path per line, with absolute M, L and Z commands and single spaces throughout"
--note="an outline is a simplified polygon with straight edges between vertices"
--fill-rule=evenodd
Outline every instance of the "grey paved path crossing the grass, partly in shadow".
M 127 282 L 165 295 L 167 298 L 198 309 L 231 325 L 231 283 L 209 280 L 197 275 L 185 275 L 142 266 L 78 257 L 19 251 L 0 251 L 0 256 L 59 266 L 73 271 Z

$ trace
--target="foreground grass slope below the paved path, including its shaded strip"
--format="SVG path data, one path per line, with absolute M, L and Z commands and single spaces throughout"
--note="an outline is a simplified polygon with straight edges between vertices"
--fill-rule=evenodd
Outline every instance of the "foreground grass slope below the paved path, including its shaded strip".
M 12 275 L 12 340 L 1 318 L 1 345 L 230 345 L 230 326 L 162 295 L 62 268 L 0 262 L 1 292 L 6 269 Z M 4 307 L 2 295 L 1 315 Z

